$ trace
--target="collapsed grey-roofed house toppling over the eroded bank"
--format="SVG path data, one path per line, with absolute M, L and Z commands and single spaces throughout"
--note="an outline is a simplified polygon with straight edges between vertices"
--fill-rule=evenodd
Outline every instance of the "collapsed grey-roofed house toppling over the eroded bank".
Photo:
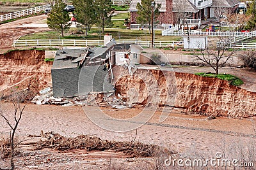
M 51 69 L 53 96 L 113 91 L 112 68 L 140 64 L 142 50 L 136 44 L 116 44 L 114 39 L 100 47 L 58 50 Z

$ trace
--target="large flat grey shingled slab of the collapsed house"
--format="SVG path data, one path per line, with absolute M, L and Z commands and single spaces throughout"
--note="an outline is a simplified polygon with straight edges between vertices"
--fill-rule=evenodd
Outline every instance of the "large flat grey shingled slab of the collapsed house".
M 82 68 L 52 69 L 52 90 L 54 97 L 74 97 L 88 92 L 113 90 L 109 83 L 108 71 L 104 66 L 84 66 Z

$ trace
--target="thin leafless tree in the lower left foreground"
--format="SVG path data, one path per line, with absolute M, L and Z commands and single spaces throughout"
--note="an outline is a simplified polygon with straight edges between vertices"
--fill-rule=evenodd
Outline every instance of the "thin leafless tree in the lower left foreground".
M 12 101 L 13 104 L 13 115 L 7 115 L 4 114 L 4 111 L 1 108 L 0 103 L 0 116 L 4 118 L 5 122 L 9 125 L 11 131 L 10 131 L 10 146 L 11 146 L 11 169 L 15 168 L 14 164 L 14 156 L 15 156 L 15 143 L 14 143 L 14 136 L 15 132 L 17 130 L 17 127 L 19 125 L 19 122 L 22 118 L 22 113 L 26 107 L 26 104 L 22 104 L 26 100 L 26 94 L 23 92 L 15 93 L 10 97 L 10 101 Z

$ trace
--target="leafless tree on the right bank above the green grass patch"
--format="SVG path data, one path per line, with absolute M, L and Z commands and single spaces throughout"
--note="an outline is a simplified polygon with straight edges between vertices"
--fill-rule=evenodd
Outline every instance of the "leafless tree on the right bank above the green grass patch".
M 201 43 L 197 43 L 197 47 L 200 53 L 194 53 L 193 56 L 201 62 L 208 64 L 214 69 L 216 75 L 219 74 L 219 69 L 227 64 L 228 60 L 233 57 L 234 50 L 229 51 L 228 45 L 230 38 L 219 36 L 215 46 L 206 46 Z

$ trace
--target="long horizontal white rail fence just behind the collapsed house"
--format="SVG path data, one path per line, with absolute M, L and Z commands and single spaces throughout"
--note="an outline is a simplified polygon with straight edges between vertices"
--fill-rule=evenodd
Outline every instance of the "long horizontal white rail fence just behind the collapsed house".
M 116 43 L 136 43 L 141 46 L 151 46 L 150 41 L 140 40 L 116 40 Z M 80 40 L 80 39 L 29 39 L 14 40 L 13 46 L 102 46 L 104 40 Z M 183 41 L 155 41 L 154 46 L 183 46 Z

